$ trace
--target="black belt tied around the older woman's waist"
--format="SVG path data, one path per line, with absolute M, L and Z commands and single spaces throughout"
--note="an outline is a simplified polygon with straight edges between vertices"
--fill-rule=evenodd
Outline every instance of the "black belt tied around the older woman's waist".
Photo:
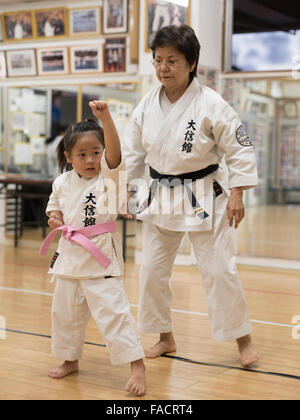
M 219 168 L 219 165 L 210 165 L 204 169 L 200 169 L 199 171 L 195 172 L 188 172 L 181 175 L 164 175 L 157 172 L 155 169 L 151 168 L 150 166 L 150 176 L 153 179 L 153 182 L 150 186 L 149 196 L 148 199 L 143 203 L 139 212 L 142 212 L 147 207 L 150 206 L 151 201 L 154 197 L 154 194 L 157 189 L 158 183 L 168 187 L 173 188 L 177 185 L 184 185 L 187 191 L 191 206 L 193 208 L 194 214 L 200 217 L 200 219 L 205 219 L 209 217 L 209 214 L 206 213 L 204 208 L 198 203 L 194 193 L 192 190 L 187 186 L 187 183 L 197 181 L 197 179 L 202 179 L 207 175 L 212 174 Z

